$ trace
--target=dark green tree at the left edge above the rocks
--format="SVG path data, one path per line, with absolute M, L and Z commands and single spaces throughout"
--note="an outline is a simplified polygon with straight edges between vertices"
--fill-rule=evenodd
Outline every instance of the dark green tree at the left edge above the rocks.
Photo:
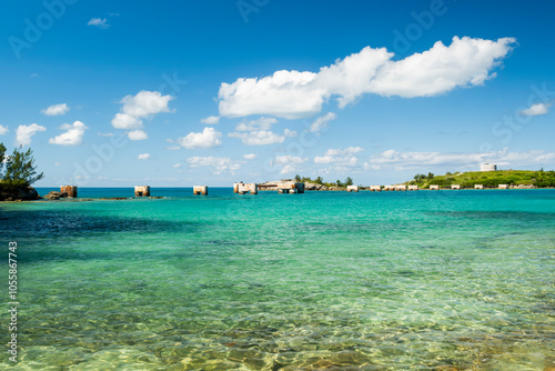
M 21 148 L 16 148 L 11 156 L 6 156 L 6 147 L 0 143 L 0 156 L 3 159 L 0 176 L 3 189 L 11 190 L 29 187 L 44 178 L 42 172 L 37 173 L 32 150 L 23 151 Z M 6 171 L 3 171 L 3 167 L 6 167 Z

